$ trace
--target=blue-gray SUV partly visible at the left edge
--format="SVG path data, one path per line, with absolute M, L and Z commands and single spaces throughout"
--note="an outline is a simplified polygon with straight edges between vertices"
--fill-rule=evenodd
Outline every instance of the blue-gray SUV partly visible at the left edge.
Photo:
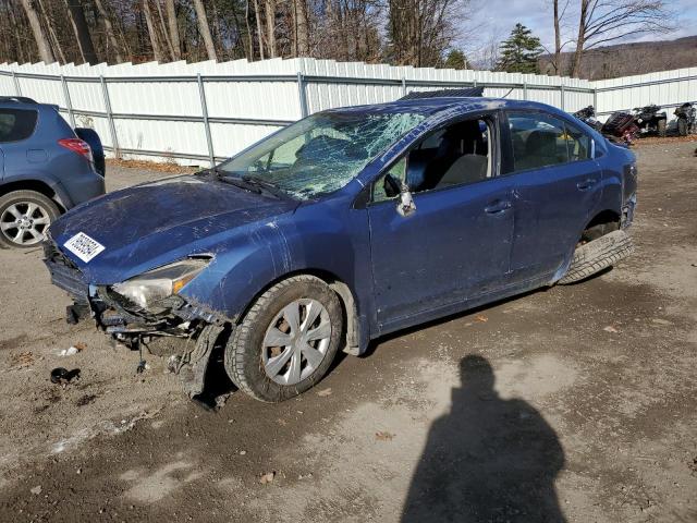
M 105 194 L 101 142 L 57 106 L 0 97 L 0 248 L 32 247 L 62 212 Z

